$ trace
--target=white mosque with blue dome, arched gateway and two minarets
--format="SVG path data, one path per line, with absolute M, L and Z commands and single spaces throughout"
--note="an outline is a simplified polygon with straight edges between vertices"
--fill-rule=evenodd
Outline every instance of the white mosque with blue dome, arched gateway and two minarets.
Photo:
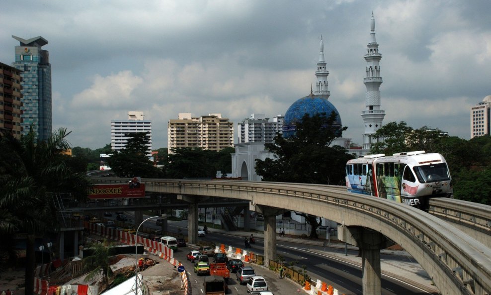
M 378 44 L 375 40 L 375 18 L 372 12 L 370 25 L 370 41 L 367 45 L 367 53 L 364 55 L 366 61 L 365 78 L 363 83 L 366 87 L 365 93 L 365 110 L 361 112 L 361 117 L 365 125 L 365 133 L 363 134 L 362 148 L 350 148 L 351 139 L 339 137 L 332 143 L 339 145 L 348 150 L 349 153 L 356 155 L 367 154 L 372 144 L 379 139 L 375 138 L 374 133 L 382 126 L 382 120 L 385 116 L 385 111 L 380 109 L 380 85 L 382 77 L 380 77 L 379 62 L 382 55 L 378 51 Z M 336 118 L 330 127 L 341 127 L 341 116 L 336 107 L 328 100 L 330 92 L 328 91 L 326 60 L 324 58 L 324 41 L 321 36 L 319 62 L 317 63 L 316 90 L 303 98 L 295 101 L 286 111 L 282 134 L 283 137 L 290 137 L 295 134 L 296 123 L 301 121 L 305 114 L 311 117 L 315 114 L 324 114 L 329 117 L 332 112 Z M 327 127 L 327 126 L 326 126 Z M 275 155 L 264 149 L 262 142 L 247 142 L 235 145 L 235 153 L 232 154 L 232 177 L 241 177 L 242 180 L 261 181 L 261 178 L 255 173 L 255 160 L 265 160 L 266 158 L 274 159 Z

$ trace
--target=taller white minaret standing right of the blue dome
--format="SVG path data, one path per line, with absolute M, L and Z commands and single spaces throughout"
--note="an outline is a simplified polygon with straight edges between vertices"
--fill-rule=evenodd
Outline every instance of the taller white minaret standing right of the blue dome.
M 382 77 L 380 77 L 379 62 L 382 59 L 382 55 L 379 53 L 379 44 L 375 41 L 373 11 L 370 30 L 370 43 L 367 45 L 367 53 L 365 54 L 365 61 L 367 62 L 366 77 L 363 79 L 363 83 L 367 88 L 365 94 L 366 108 L 361 112 L 361 117 L 365 123 L 365 134 L 363 134 L 364 150 L 369 150 L 372 144 L 383 141 L 383 138 L 373 138 L 373 135 L 382 126 L 382 120 L 385 116 L 385 111 L 380 109 L 379 87 L 382 84 Z

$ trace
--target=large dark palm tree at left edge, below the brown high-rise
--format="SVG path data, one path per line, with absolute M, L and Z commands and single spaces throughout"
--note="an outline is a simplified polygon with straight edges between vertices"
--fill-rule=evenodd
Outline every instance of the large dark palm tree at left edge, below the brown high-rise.
M 0 134 L 0 235 L 26 233 L 26 295 L 34 290 L 35 237 L 58 224 L 51 193 L 86 196 L 84 173 L 61 153 L 70 148 L 70 133 L 60 128 L 46 141 L 37 139 L 32 126 L 20 140 Z

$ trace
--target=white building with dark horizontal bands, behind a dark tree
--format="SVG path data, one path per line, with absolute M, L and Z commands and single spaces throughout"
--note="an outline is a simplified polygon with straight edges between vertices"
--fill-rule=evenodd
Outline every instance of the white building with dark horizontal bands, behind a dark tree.
M 111 150 L 119 151 L 125 148 L 129 133 L 147 132 L 147 156 L 152 155 L 152 121 L 145 120 L 143 111 L 128 111 L 128 120 L 111 121 Z

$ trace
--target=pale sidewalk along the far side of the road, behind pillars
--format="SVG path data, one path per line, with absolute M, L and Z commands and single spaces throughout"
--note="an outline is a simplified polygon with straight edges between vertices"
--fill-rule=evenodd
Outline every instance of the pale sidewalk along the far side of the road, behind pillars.
M 213 233 L 222 233 L 227 235 L 234 235 L 240 237 L 250 237 L 250 234 L 254 235 L 254 238 L 264 239 L 264 233 L 260 231 L 226 231 L 222 229 L 216 228 L 208 228 L 209 232 Z M 338 259 L 344 261 L 346 263 L 351 263 L 357 265 L 361 268 L 361 257 L 356 255 L 348 254 L 347 256 L 344 254 L 344 251 L 334 252 L 333 250 L 345 249 L 345 244 L 331 238 L 330 243 L 327 245 L 327 240 L 319 239 L 319 240 L 309 240 L 309 239 L 301 239 L 297 236 L 289 236 L 286 235 L 284 237 L 280 237 L 276 235 L 276 241 L 288 241 L 293 243 L 302 243 L 302 247 L 308 246 L 320 246 L 323 247 L 324 243 L 326 243 L 326 251 L 319 249 L 309 249 L 312 252 L 316 252 L 322 255 L 329 256 L 334 259 Z M 397 248 L 397 247 L 395 247 Z M 358 248 L 355 246 L 347 245 L 348 250 L 357 251 Z M 394 259 L 381 259 L 380 266 L 382 276 L 386 275 L 388 277 L 400 280 L 402 282 L 408 283 L 412 286 L 415 286 L 422 291 L 426 291 L 429 293 L 439 293 L 438 289 L 433 285 L 431 279 L 429 278 L 426 271 L 407 253 L 403 250 L 390 250 L 383 249 L 380 250 L 380 254 L 384 255 L 393 255 Z

